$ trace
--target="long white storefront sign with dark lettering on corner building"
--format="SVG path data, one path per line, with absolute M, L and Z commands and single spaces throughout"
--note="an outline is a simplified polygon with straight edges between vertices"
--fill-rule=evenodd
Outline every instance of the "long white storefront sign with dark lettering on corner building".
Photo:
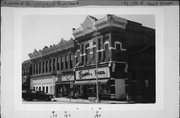
M 98 78 L 110 77 L 109 68 L 104 67 L 104 68 L 98 68 L 98 71 L 96 71 L 96 68 L 76 71 L 76 80 L 94 79 L 94 78 L 96 78 L 96 74 L 97 74 Z

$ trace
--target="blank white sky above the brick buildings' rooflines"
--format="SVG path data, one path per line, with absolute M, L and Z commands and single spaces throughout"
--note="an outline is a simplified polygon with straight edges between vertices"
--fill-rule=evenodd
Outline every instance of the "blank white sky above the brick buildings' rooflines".
M 88 14 L 89 15 L 89 14 Z M 115 14 L 116 15 L 116 14 Z M 69 40 L 72 28 L 80 27 L 87 15 L 25 15 L 22 21 L 22 61 L 29 59 L 34 49 L 42 49 Z M 91 15 L 102 18 L 105 15 Z M 116 15 L 155 28 L 154 15 Z

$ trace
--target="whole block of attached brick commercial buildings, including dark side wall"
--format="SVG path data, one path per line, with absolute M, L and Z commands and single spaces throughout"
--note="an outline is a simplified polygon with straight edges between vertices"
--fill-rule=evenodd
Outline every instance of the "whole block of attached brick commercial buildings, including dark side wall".
M 74 39 L 29 54 L 31 88 L 69 96 L 155 102 L 155 30 L 115 15 L 87 16 Z M 127 97 L 128 96 L 128 97 Z

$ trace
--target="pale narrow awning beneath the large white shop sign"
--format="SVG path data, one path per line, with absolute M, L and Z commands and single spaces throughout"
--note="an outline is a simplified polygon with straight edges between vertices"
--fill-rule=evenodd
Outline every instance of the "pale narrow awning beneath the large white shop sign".
M 107 83 L 109 79 L 98 80 L 98 83 Z M 84 80 L 84 81 L 75 81 L 75 85 L 83 85 L 83 84 L 96 84 L 96 80 Z

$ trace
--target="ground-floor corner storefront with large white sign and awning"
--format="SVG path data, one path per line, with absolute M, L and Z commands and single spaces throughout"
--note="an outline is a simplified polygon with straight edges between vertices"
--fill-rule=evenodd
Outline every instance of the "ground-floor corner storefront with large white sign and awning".
M 100 99 L 119 99 L 125 93 L 125 80 L 111 78 L 109 67 L 77 70 L 75 76 L 74 91 L 80 98 L 96 97 L 97 81 Z

